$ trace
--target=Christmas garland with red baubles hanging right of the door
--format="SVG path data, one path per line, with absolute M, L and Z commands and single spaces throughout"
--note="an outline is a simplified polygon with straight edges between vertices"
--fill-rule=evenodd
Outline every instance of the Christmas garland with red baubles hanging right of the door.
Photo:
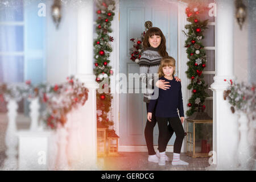
M 208 19 L 201 20 L 200 16 L 205 11 L 208 11 L 208 7 L 204 6 L 203 3 L 190 3 L 185 10 L 187 14 L 188 22 L 185 28 L 188 33 L 184 34 L 187 36 L 185 40 L 185 47 L 187 47 L 187 54 L 189 61 L 187 62 L 188 70 L 186 71 L 187 77 L 191 79 L 191 84 L 188 85 L 188 89 L 192 90 L 192 96 L 189 98 L 189 110 L 187 115 L 190 116 L 195 113 L 198 109 L 205 109 L 205 98 L 209 97 L 208 93 L 205 92 L 207 86 L 205 86 L 205 81 L 203 80 L 203 71 L 206 67 L 207 56 L 205 49 L 201 41 L 204 39 L 203 32 L 207 29 Z

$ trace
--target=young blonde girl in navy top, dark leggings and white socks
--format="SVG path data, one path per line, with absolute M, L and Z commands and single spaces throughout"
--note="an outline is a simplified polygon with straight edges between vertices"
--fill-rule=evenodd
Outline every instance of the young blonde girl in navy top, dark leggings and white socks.
M 174 80 L 175 59 L 173 57 L 163 58 L 159 67 L 159 80 L 170 82 L 170 89 L 159 89 L 159 96 L 156 100 L 150 100 L 148 105 L 147 119 L 151 121 L 152 112 L 155 108 L 156 121 L 158 122 L 159 137 L 158 146 L 160 152 L 159 165 L 166 164 L 166 140 L 170 138 L 170 131 L 167 124 L 170 123 L 176 134 L 174 143 L 174 158 L 172 165 L 188 165 L 187 162 L 180 160 L 180 150 L 184 138 L 184 129 L 182 123 L 184 121 L 183 100 L 181 94 L 181 84 Z M 157 104 L 156 104 L 157 102 Z M 156 107 L 155 107 L 156 105 Z M 177 113 L 179 109 L 179 115 Z

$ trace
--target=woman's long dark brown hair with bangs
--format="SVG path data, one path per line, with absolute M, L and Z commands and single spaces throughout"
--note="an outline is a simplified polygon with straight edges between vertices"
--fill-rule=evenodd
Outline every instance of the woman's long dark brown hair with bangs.
M 143 48 L 146 50 L 148 47 L 150 47 L 150 43 L 148 42 L 148 38 L 150 38 L 153 35 L 159 35 L 161 37 L 161 43 L 158 46 L 158 52 L 160 56 L 166 57 L 168 56 L 168 52 L 166 52 L 166 38 L 163 35 L 163 32 L 158 27 L 151 27 L 147 30 L 146 35 L 143 39 Z

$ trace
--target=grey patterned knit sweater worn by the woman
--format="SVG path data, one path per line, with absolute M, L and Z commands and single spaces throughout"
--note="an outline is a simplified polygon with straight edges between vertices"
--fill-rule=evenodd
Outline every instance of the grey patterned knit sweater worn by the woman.
M 142 53 L 141 59 L 139 60 L 139 74 L 144 74 L 142 76 L 143 84 L 146 84 L 147 91 L 144 93 L 143 101 L 149 103 L 148 98 L 152 96 L 154 92 L 154 73 L 158 73 L 158 68 L 162 56 L 158 53 L 158 48 L 149 47 L 146 51 Z M 149 75 L 147 73 L 151 73 Z M 156 80 L 157 81 L 157 80 Z

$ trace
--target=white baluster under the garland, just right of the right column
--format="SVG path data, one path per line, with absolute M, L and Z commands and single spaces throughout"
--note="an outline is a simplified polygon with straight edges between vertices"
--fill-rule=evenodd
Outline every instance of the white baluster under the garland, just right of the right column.
M 240 140 L 238 143 L 238 168 L 241 170 L 248 169 L 250 160 L 250 146 L 248 142 L 248 117 L 242 111 L 238 111 L 238 123 L 240 124 Z

